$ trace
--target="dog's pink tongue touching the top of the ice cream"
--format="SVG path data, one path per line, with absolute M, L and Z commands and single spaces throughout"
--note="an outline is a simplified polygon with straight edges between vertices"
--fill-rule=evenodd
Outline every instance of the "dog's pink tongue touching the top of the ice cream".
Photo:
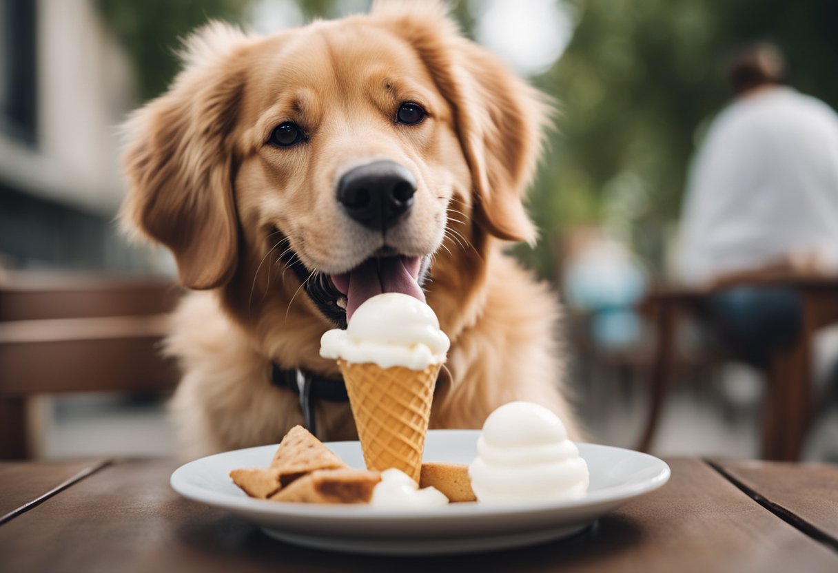
M 367 299 L 382 292 L 401 292 L 425 302 L 425 293 L 418 282 L 421 264 L 419 257 L 391 256 L 370 259 L 350 271 L 348 285 L 344 282 L 346 275 L 338 280 L 333 276 L 336 286 L 346 287 L 346 321 L 351 320 L 355 309 Z

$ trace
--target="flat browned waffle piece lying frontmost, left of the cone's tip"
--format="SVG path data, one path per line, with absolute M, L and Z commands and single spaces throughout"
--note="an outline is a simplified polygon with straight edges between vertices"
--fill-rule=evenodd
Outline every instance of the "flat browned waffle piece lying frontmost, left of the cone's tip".
M 318 470 L 303 476 L 270 499 L 302 503 L 370 503 L 379 472 L 343 467 Z

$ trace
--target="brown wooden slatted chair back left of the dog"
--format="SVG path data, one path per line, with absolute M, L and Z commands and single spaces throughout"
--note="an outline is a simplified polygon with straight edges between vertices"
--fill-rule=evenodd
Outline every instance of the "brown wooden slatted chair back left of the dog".
M 171 389 L 159 342 L 180 293 L 162 278 L 0 274 L 0 459 L 31 457 L 36 395 Z

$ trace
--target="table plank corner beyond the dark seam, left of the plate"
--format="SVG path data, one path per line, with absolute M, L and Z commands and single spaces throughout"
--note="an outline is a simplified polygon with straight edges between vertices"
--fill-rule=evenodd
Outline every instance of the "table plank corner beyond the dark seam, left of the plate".
M 0 462 L 0 517 L 101 462 Z

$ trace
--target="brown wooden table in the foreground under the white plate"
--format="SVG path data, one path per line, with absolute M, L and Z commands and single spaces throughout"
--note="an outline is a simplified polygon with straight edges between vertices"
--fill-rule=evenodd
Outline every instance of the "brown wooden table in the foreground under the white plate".
M 838 467 L 668 462 L 672 478 L 664 488 L 572 539 L 409 559 L 270 539 L 241 519 L 178 497 L 168 486 L 178 465 L 171 460 L 3 462 L 0 570 L 838 571 Z

